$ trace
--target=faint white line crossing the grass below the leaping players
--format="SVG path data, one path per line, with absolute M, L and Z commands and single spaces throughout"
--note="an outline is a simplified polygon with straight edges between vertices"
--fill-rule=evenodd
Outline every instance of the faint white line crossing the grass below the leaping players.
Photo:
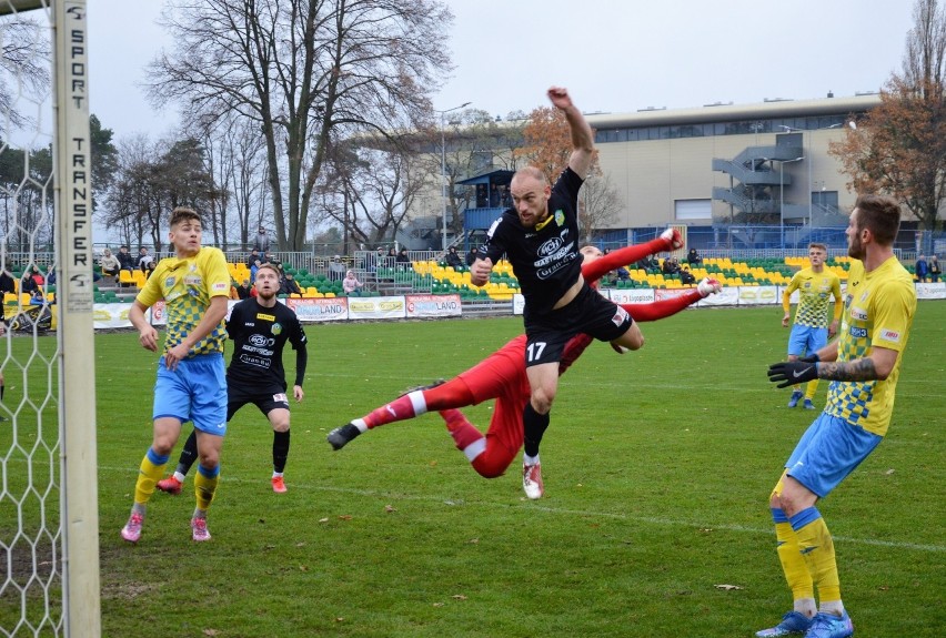
M 130 470 L 125 467 L 100 467 L 99 469 L 104 469 L 107 472 L 122 472 L 130 473 Z M 134 472 L 137 475 L 137 470 Z M 259 478 L 239 478 L 233 476 L 227 476 L 224 479 L 227 483 L 236 483 L 241 485 L 256 485 L 260 483 Z M 484 479 L 485 480 L 485 479 Z M 696 529 L 725 529 L 727 531 L 742 531 L 746 534 L 758 534 L 763 536 L 775 536 L 775 531 L 768 528 L 758 528 L 758 527 L 746 527 L 744 525 L 713 525 L 708 523 L 695 523 L 692 520 L 681 520 L 676 518 L 660 518 L 655 516 L 631 516 L 627 514 L 621 514 L 615 512 L 588 512 L 582 509 L 565 509 L 560 507 L 549 507 L 544 505 L 536 504 L 526 504 L 524 502 L 513 502 L 513 503 L 493 503 L 486 500 L 477 500 L 475 503 L 467 503 L 461 499 L 453 498 L 443 498 L 436 496 L 421 496 L 421 495 L 411 495 L 403 493 L 390 493 L 390 492 L 379 492 L 376 489 L 355 489 L 350 487 L 328 487 L 324 485 L 308 485 L 308 484 L 299 484 L 295 482 L 291 483 L 293 489 L 310 489 L 313 492 L 332 492 L 336 494 L 353 494 L 356 496 L 365 496 L 371 498 L 392 498 L 396 500 L 426 500 L 431 503 L 443 503 L 445 505 L 475 505 L 475 506 L 486 506 L 486 507 L 502 507 L 510 508 L 514 505 L 520 505 L 522 507 L 531 507 L 533 509 L 540 509 L 542 512 L 547 512 L 549 514 L 561 514 L 567 516 L 597 516 L 603 518 L 615 518 L 618 520 L 630 520 L 634 523 L 646 523 L 650 525 L 663 525 L 667 527 L 694 527 Z M 910 549 L 916 551 L 933 551 L 940 553 L 946 551 L 946 546 L 944 545 L 923 545 L 919 543 L 905 543 L 899 540 L 877 540 L 874 538 L 857 538 L 854 536 L 836 536 L 833 535 L 833 538 L 843 543 L 853 543 L 856 545 L 872 545 L 875 547 L 892 547 L 895 549 Z

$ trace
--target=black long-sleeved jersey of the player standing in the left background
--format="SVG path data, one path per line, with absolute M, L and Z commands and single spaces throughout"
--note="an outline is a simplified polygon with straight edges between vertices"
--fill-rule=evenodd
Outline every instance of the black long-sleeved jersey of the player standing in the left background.
M 233 357 L 227 368 L 228 383 L 279 385 L 285 391 L 282 350 L 288 341 L 298 351 L 295 385 L 302 385 L 306 362 L 305 332 L 295 313 L 284 304 L 276 302 L 275 306 L 268 308 L 261 306 L 255 297 L 241 301 L 230 312 L 227 334 L 234 344 Z

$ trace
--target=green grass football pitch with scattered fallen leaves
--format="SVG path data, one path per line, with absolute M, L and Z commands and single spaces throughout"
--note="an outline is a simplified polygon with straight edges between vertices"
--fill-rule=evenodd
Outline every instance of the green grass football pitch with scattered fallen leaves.
M 479 362 L 520 320 L 310 325 L 289 493 L 272 493 L 271 431 L 244 408 L 201 545 L 190 478 L 184 495 L 154 496 L 138 546 L 119 537 L 155 361 L 134 334 L 98 336 L 102 635 L 752 636 L 791 606 L 767 500 L 814 416 L 766 381 L 787 342 L 781 316 L 685 312 L 644 324 L 637 353 L 590 347 L 563 377 L 534 503 L 517 462 L 481 478 L 436 415 L 341 452 L 324 440 Z M 887 440 L 819 506 L 858 636 L 934 637 L 946 622 L 944 326 L 946 304 L 922 302 Z M 489 405 L 465 412 L 489 422 Z

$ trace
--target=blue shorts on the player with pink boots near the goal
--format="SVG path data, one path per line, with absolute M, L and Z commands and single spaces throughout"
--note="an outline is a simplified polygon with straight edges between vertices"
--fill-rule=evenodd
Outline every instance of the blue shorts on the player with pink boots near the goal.
M 182 359 L 169 371 L 164 357 L 158 362 L 152 418 L 172 417 L 208 434 L 227 434 L 227 372 L 223 354 Z

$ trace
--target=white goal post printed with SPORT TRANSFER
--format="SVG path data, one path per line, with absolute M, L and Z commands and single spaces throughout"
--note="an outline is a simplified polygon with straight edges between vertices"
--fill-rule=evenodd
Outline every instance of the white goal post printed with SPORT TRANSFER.
M 97 638 L 101 600 L 85 0 L 56 0 L 52 26 L 63 619 L 66 636 Z

